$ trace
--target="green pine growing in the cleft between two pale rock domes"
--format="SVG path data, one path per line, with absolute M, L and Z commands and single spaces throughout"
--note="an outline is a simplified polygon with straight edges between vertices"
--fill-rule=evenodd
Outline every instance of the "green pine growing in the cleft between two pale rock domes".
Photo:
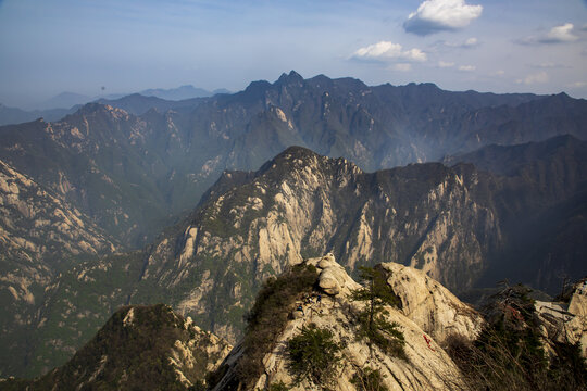
M 386 319 L 385 306 L 399 306 L 400 301 L 387 283 L 385 270 L 380 266 L 361 267 L 361 277 L 365 287 L 352 292 L 352 300 L 365 302 L 365 308 L 357 315 L 360 339 L 367 340 L 384 352 L 408 360 L 403 345 L 403 333 L 398 324 Z

